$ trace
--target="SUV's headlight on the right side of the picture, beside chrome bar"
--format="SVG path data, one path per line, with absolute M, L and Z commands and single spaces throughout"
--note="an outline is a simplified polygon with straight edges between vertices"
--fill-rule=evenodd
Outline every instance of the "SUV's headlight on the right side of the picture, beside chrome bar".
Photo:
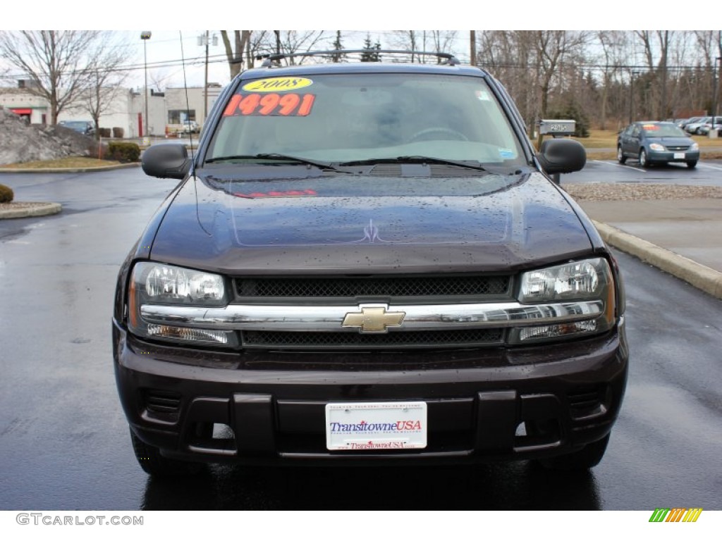
M 604 332 L 614 326 L 612 269 L 606 259 L 595 258 L 523 273 L 518 301 L 546 306 L 560 315 L 575 315 L 575 321 L 523 327 L 512 333 L 510 339 L 514 342 Z M 590 309 L 599 303 L 601 310 Z

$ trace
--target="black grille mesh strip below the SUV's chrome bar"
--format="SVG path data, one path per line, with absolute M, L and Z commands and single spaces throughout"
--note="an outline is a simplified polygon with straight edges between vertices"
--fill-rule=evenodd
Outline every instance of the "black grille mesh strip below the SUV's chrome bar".
M 242 335 L 243 346 L 247 348 L 305 349 L 495 346 L 500 344 L 503 339 L 503 331 L 500 329 L 412 331 L 387 334 L 245 331 Z

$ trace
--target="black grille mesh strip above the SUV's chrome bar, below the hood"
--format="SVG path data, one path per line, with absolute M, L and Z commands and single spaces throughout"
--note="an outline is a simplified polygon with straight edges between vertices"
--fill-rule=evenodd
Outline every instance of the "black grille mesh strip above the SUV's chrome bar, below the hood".
M 240 297 L 269 299 L 342 297 L 503 296 L 508 276 L 370 277 L 370 278 L 238 278 Z

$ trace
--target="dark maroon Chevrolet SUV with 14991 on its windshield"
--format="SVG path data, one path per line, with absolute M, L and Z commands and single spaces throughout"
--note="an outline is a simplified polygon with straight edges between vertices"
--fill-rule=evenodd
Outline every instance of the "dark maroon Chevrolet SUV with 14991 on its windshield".
M 118 276 L 113 353 L 140 465 L 386 465 L 604 454 L 624 291 L 503 86 L 440 65 L 237 76 Z

